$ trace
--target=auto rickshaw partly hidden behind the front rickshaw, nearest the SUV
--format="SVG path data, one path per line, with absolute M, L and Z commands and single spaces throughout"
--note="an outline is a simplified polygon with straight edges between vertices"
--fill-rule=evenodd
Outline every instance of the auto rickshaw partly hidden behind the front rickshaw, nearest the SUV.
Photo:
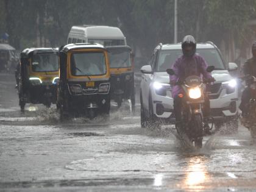
M 123 99 L 130 99 L 135 108 L 134 73 L 129 46 L 107 46 L 110 58 L 111 98 L 121 106 Z

